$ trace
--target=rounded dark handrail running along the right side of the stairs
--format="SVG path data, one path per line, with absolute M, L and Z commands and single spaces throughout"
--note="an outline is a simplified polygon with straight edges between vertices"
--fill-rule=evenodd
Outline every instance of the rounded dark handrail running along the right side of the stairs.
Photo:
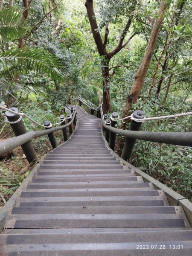
M 115 134 L 119 134 L 123 137 L 147 140 L 157 143 L 165 143 L 180 146 L 192 147 L 192 132 L 151 132 L 151 131 L 128 131 L 121 130 L 105 124 L 102 115 L 102 108 L 100 108 L 102 125 L 105 129 L 112 131 Z

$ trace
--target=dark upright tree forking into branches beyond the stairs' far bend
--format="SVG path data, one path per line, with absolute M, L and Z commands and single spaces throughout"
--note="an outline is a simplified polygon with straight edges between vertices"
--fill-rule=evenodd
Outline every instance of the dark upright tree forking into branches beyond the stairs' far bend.
M 93 7 L 93 0 L 86 0 L 85 1 L 85 7 L 87 9 L 87 15 L 89 18 L 93 38 L 96 43 L 97 50 L 99 52 L 99 55 L 101 57 L 101 65 L 102 65 L 102 86 L 103 86 L 103 112 L 106 113 L 107 111 L 112 111 L 111 107 L 111 100 L 110 100 L 110 93 L 109 93 L 109 81 L 110 81 L 110 75 L 109 75 L 109 62 L 111 58 L 113 58 L 114 55 L 116 55 L 121 49 L 123 49 L 129 42 L 130 40 L 138 34 L 138 32 L 134 32 L 129 38 L 125 40 L 125 36 L 128 33 L 128 30 L 131 26 L 132 18 L 133 18 L 133 11 L 135 10 L 137 1 L 133 1 L 131 3 L 131 8 L 130 8 L 130 14 L 128 15 L 128 20 L 127 23 L 122 30 L 122 34 L 119 37 L 119 41 L 116 44 L 116 47 L 112 51 L 108 51 L 106 49 L 107 47 L 107 42 L 108 42 L 108 35 L 109 35 L 109 23 L 106 22 L 105 24 L 105 35 L 104 35 L 104 40 L 102 40 L 102 36 L 99 32 L 99 27 L 97 25 L 96 21 L 96 15 L 94 12 L 94 7 Z

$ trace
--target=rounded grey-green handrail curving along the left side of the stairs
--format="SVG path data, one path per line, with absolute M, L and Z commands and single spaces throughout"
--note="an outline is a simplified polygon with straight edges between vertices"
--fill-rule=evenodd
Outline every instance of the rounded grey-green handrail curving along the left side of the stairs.
M 29 131 L 25 134 L 19 135 L 17 137 L 11 138 L 9 140 L 4 140 L 2 142 L 0 142 L 0 155 L 9 152 L 10 150 L 17 148 L 20 145 L 23 145 L 24 143 L 28 142 L 31 139 L 35 139 L 37 137 L 41 137 L 47 134 L 50 134 L 54 131 L 59 131 L 62 130 L 64 128 L 67 128 L 68 126 L 70 126 L 76 116 L 76 110 L 73 113 L 73 117 L 71 119 L 70 122 L 68 122 L 66 125 L 61 125 L 58 127 L 53 127 L 47 130 L 41 130 L 41 131 Z

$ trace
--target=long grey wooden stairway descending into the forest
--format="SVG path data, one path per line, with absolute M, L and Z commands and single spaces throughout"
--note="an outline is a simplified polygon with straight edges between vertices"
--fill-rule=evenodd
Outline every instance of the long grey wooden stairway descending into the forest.
M 191 256 L 183 209 L 116 160 L 100 120 L 76 110 L 71 139 L 44 158 L 9 209 L 0 255 Z

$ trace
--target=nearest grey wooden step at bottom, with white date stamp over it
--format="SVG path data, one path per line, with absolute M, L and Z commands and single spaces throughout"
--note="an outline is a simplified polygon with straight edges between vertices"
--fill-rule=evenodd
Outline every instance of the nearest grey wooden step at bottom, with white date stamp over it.
M 22 256 L 142 256 L 144 252 L 147 256 L 191 256 L 192 250 L 191 230 L 0 236 L 8 244 L 4 250 L 11 256 L 18 252 Z M 180 249 L 171 249 L 174 245 Z M 150 249 L 139 249 L 144 246 Z

